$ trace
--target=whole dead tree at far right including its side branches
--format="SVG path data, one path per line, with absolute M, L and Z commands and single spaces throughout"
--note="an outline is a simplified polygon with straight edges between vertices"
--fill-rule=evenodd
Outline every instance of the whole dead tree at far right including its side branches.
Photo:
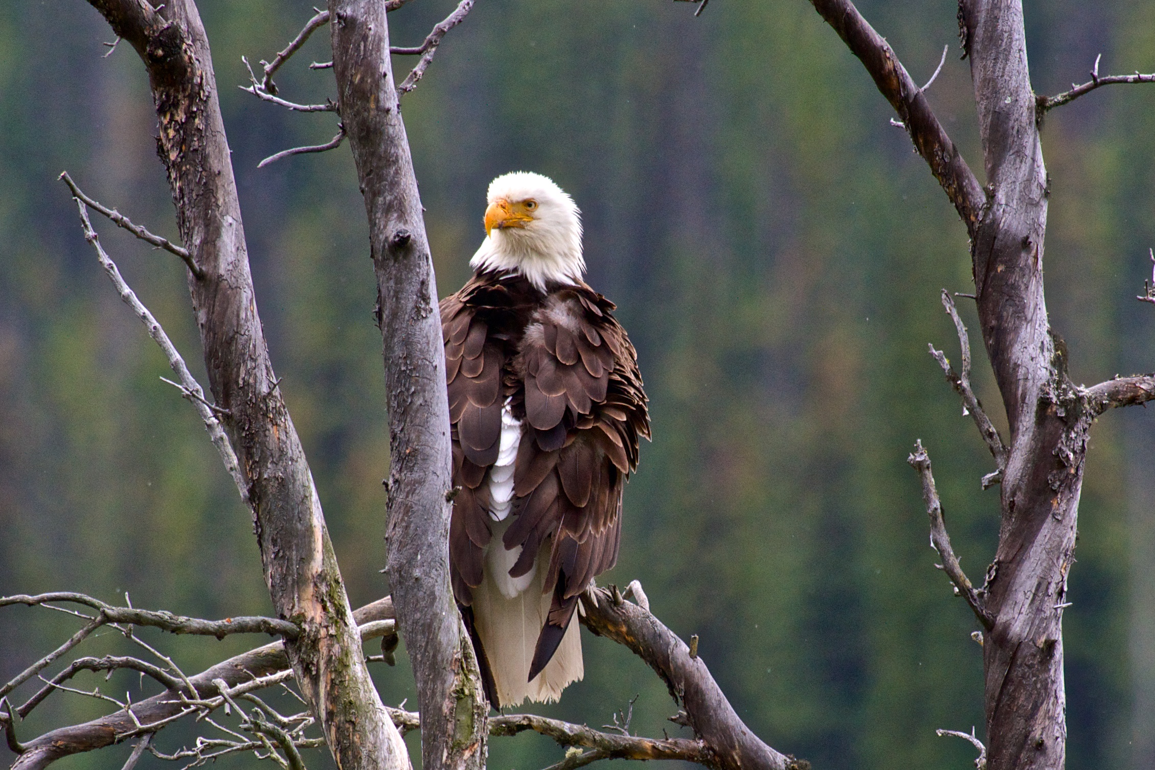
M 985 585 L 973 590 L 961 569 L 952 580 L 984 629 L 986 767 L 1060 770 L 1066 757 L 1063 610 L 1087 436 L 1104 410 L 1149 399 L 1153 377 L 1125 377 L 1094 388 L 1078 388 L 1067 377 L 1066 350 L 1048 323 L 1043 297 L 1050 181 L 1040 125 L 1045 110 L 1101 81 L 1141 79 L 1100 79 L 1096 69 L 1093 83 L 1068 95 L 1036 97 L 1021 0 L 961 0 L 960 35 L 970 57 L 986 172 L 986 186 L 981 187 L 923 89 L 855 6 L 848 0 L 812 2 L 895 107 L 971 238 L 983 343 L 1011 435 L 1004 444 L 969 394 L 969 383 L 963 388 L 941 359 L 955 387 L 977 406 L 971 411 L 997 464 L 988 480 L 1001 478 L 1003 485 L 999 546 Z M 959 327 L 964 335 L 961 322 Z M 964 357 L 967 369 L 969 352 Z M 930 461 L 921 447 L 911 464 L 924 476 L 932 522 L 941 526 Z M 936 547 L 949 552 L 945 531 L 941 536 Z

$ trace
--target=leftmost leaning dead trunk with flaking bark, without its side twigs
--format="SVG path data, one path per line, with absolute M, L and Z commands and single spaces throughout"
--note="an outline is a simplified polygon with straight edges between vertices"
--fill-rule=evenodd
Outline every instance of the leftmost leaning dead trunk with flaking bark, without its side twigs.
M 301 694 L 338 767 L 405 768 L 404 742 L 365 668 L 316 489 L 269 360 L 196 6 L 174 0 L 155 12 L 134 0 L 91 1 L 149 73 L 178 230 L 203 276 L 189 276 L 189 291 L 209 386 L 228 410 L 225 431 L 249 483 L 274 606 L 303 629 L 288 644 Z

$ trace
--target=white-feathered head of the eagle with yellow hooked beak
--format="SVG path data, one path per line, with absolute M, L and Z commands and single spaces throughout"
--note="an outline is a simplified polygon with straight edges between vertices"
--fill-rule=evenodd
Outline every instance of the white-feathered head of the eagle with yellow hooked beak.
M 581 281 L 581 211 L 552 179 L 514 171 L 490 182 L 485 240 L 474 270 L 513 270 L 545 291 L 545 282 Z

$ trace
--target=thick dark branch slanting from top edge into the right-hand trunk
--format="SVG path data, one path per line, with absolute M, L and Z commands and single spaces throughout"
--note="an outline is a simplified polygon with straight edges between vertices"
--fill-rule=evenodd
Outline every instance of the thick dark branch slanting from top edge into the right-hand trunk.
M 923 89 L 915 84 L 891 45 L 863 18 L 850 0 L 811 2 L 847 47 L 862 60 L 878 90 L 899 113 L 915 149 L 930 165 L 931 173 L 954 203 L 967 230 L 973 232 L 982 216 L 986 195 L 934 117 Z

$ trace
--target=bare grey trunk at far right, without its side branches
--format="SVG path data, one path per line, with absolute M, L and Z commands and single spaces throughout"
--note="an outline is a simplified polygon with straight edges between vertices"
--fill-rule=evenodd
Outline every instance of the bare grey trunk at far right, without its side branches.
M 1090 414 L 1043 298 L 1049 181 L 1019 0 L 964 2 L 989 204 L 973 241 L 983 342 L 1011 425 L 984 638 L 990 770 L 1066 758 L 1063 608 Z M 1056 344 L 1056 343 L 1059 344 Z

